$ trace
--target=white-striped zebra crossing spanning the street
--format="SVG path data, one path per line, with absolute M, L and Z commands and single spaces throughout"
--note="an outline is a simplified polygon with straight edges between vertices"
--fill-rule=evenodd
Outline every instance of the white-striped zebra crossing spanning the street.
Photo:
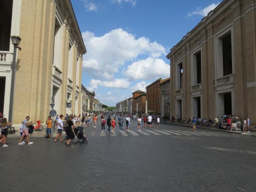
M 90 136 L 96 136 L 96 131 L 90 132 Z M 130 131 L 115 131 L 114 133 L 106 133 L 106 132 L 100 132 L 99 134 L 102 137 L 105 136 L 123 136 L 123 137 L 128 137 L 128 136 L 160 136 L 160 135 L 166 135 L 166 136 L 206 136 L 206 137 L 238 137 L 237 135 L 234 134 L 229 134 L 225 132 L 208 132 L 208 131 L 197 131 L 197 132 L 192 132 L 188 130 L 156 130 L 156 129 L 151 129 L 151 130 L 130 130 Z

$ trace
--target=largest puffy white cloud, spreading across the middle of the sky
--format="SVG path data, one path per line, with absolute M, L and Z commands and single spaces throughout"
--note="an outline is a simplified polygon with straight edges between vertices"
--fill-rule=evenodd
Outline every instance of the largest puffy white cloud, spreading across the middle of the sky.
M 157 58 L 166 54 L 166 49 L 148 38 L 136 38 L 123 29 L 114 29 L 103 36 L 92 32 L 83 32 L 82 36 L 88 52 L 83 58 L 83 67 L 97 79 L 111 80 L 114 73 L 127 61 L 132 61 L 140 54 Z

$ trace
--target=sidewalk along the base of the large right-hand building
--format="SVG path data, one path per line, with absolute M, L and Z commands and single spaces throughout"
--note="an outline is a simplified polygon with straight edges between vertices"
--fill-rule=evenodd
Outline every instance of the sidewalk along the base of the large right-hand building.
M 187 123 L 177 123 L 177 122 L 167 122 L 167 121 L 161 121 L 160 123 L 162 124 L 169 124 L 169 125 L 175 125 L 175 126 L 183 126 L 183 127 L 193 127 L 193 124 L 187 124 Z M 203 126 L 203 125 L 196 125 L 197 129 L 207 129 L 207 130 L 212 130 L 212 131 L 219 131 L 219 132 L 228 132 L 228 133 L 234 133 L 234 134 L 242 134 L 242 135 L 249 135 L 249 136 L 256 136 L 256 132 L 245 132 L 243 133 L 242 131 L 229 131 L 229 130 L 224 130 L 224 129 L 217 129 L 216 127 L 208 127 L 208 126 Z M 252 128 L 251 130 L 255 131 L 255 128 Z

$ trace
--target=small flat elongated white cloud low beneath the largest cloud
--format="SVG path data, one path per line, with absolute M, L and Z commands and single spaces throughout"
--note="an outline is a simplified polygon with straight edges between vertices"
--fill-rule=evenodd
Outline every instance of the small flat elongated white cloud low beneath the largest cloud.
M 95 90 L 98 88 L 98 86 L 107 87 L 107 88 L 126 89 L 130 87 L 130 82 L 127 79 L 115 79 L 112 81 L 101 81 L 101 80 L 92 79 L 90 81 L 90 87 L 88 88 L 88 90 L 89 91 Z

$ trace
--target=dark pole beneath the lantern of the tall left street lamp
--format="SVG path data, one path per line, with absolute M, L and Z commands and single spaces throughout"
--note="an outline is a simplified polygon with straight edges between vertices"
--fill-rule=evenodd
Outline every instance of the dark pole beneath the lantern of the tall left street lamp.
M 12 115 L 13 115 L 14 85 L 15 85 L 15 74 L 16 74 L 16 51 L 17 51 L 17 46 L 14 46 L 13 58 L 12 58 L 12 82 L 11 82 L 11 92 L 10 92 L 10 106 L 9 106 L 9 116 L 8 116 L 9 122 L 12 122 Z

